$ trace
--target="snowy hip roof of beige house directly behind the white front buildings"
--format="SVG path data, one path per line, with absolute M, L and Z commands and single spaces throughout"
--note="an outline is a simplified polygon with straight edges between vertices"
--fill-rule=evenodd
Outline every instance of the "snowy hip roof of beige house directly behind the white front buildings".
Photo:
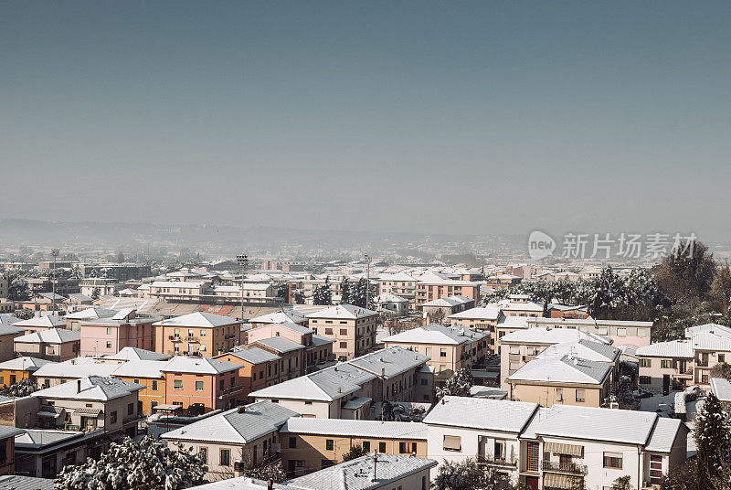
M 511 381 L 602 385 L 611 372 L 609 364 L 579 357 L 546 357 L 528 361 L 507 378 Z

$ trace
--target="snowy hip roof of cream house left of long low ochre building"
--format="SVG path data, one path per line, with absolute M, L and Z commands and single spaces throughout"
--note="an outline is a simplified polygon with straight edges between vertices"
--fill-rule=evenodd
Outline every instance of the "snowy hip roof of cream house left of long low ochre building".
M 269 400 L 257 401 L 165 432 L 160 439 L 245 444 L 279 431 L 284 422 L 299 415 Z

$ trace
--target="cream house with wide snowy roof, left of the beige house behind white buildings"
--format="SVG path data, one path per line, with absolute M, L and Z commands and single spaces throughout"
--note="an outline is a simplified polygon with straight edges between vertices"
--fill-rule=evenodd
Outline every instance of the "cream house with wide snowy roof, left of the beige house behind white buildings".
M 462 326 L 425 325 L 387 336 L 387 347 L 400 346 L 429 357 L 435 384 L 443 386 L 461 368 L 482 364 L 489 353 L 488 335 Z M 430 401 L 430 399 L 429 399 Z

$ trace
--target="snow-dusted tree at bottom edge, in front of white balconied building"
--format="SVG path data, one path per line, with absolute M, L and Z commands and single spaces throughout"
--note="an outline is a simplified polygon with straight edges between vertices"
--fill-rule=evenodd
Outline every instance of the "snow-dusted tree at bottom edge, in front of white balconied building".
M 498 473 L 493 466 L 481 467 L 475 460 L 460 463 L 445 461 L 431 482 L 434 490 L 509 490 L 509 476 Z

